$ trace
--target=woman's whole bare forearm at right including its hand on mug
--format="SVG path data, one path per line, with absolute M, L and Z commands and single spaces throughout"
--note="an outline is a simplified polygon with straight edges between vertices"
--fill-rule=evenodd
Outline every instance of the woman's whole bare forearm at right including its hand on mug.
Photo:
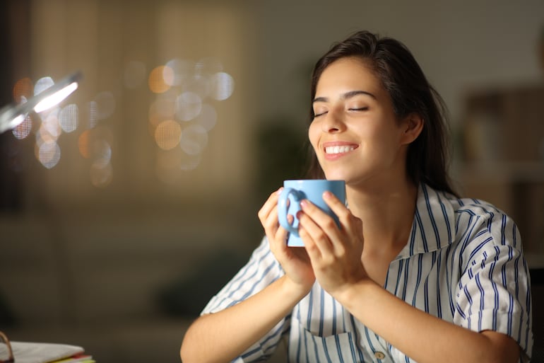
M 314 274 L 350 313 L 418 362 L 517 362 L 520 347 L 507 335 L 481 333 L 420 311 L 372 281 L 360 258 L 362 222 L 336 198 L 329 205 L 342 228 L 310 203 L 299 216 Z

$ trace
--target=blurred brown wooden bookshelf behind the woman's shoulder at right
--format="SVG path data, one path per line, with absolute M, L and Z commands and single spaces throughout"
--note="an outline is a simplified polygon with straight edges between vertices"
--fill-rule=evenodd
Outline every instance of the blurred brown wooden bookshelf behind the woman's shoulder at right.
M 529 265 L 544 267 L 544 83 L 469 91 L 461 123 L 461 191 L 519 226 Z

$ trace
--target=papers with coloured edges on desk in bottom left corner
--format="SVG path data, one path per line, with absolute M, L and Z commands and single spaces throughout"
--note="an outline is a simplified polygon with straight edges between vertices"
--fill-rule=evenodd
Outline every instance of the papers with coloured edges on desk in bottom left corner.
M 0 356 L 3 349 L 6 345 L 0 345 Z M 16 363 L 95 363 L 93 357 L 77 345 L 11 342 L 11 349 Z

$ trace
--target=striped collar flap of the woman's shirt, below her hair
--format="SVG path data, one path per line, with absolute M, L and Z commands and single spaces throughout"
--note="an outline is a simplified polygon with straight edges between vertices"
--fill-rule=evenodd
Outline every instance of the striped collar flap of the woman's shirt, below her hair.
M 455 211 L 451 195 L 421 184 L 408 243 L 396 260 L 449 246 L 455 235 Z

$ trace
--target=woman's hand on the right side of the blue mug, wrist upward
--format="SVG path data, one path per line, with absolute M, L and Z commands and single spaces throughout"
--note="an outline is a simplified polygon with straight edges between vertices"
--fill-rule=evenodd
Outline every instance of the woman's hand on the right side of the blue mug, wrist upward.
M 297 218 L 314 275 L 321 287 L 334 296 L 368 278 L 362 265 L 362 221 L 331 192 L 324 192 L 323 199 L 338 217 L 340 227 L 309 200 L 302 201 Z

